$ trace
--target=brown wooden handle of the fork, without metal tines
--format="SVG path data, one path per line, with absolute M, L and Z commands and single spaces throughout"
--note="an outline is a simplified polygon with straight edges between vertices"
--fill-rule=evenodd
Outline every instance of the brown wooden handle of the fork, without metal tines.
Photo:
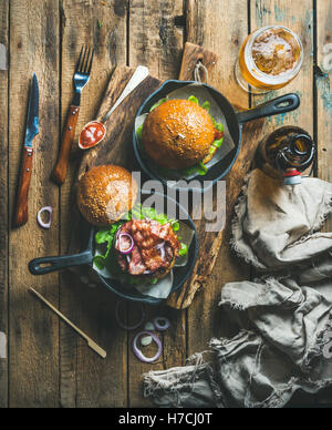
M 58 157 L 56 165 L 53 170 L 52 177 L 56 184 L 62 185 L 66 177 L 69 160 L 71 150 L 73 146 L 75 130 L 79 120 L 79 106 L 70 106 L 69 114 L 66 117 L 65 129 L 62 137 L 60 154 Z

